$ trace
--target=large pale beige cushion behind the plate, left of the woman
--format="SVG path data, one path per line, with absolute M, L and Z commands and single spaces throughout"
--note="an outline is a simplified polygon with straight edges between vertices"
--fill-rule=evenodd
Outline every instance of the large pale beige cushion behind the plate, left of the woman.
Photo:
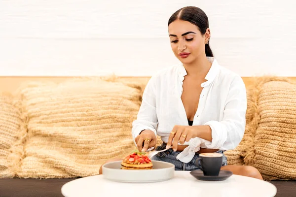
M 136 148 L 131 128 L 141 90 L 112 81 L 31 83 L 21 90 L 28 137 L 20 177 L 95 175 L 106 160 Z

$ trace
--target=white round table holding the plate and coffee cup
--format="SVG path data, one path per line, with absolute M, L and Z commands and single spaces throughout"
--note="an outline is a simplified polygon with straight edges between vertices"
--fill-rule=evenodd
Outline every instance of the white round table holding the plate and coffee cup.
M 189 171 L 175 171 L 175 177 L 157 183 L 120 183 L 103 175 L 66 183 L 65 197 L 274 197 L 276 187 L 255 178 L 232 175 L 224 181 L 200 181 Z

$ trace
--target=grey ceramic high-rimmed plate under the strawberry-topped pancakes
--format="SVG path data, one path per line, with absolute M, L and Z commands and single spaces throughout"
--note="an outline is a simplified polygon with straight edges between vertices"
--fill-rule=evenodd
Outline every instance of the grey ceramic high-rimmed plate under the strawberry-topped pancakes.
M 152 169 L 120 169 L 121 161 L 102 166 L 103 176 L 111 181 L 128 183 L 151 183 L 169 180 L 174 177 L 175 165 L 167 162 L 152 161 Z

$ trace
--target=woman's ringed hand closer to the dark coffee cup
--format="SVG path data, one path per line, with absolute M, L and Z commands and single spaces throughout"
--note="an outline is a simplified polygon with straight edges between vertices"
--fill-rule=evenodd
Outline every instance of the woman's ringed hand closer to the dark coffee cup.
M 180 144 L 184 144 L 185 141 L 187 142 L 191 138 L 197 137 L 197 132 L 198 131 L 196 126 L 176 125 L 170 133 L 166 147 L 171 147 L 173 143 L 173 150 L 177 151 L 178 142 L 180 142 Z

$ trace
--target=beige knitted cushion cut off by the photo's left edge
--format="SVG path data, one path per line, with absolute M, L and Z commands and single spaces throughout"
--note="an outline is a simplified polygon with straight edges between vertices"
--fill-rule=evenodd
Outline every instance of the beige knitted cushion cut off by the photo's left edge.
M 12 96 L 0 95 L 0 178 L 15 176 L 24 153 L 26 129 L 15 104 Z

